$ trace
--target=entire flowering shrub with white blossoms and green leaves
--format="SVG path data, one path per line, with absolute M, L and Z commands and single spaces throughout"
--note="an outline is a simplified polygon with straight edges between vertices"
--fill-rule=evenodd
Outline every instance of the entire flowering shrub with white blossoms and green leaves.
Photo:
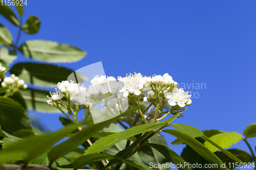
M 18 45 L 21 32 L 38 32 L 40 19 L 31 15 L 22 26 L 23 7 L 15 6 L 18 19 L 3 4 L 0 14 L 19 33 L 14 42 L 9 30 L 0 24 L 0 168 L 170 169 L 174 167 L 171 162 L 188 170 L 209 164 L 214 169 L 255 169 L 256 157 L 247 138 L 256 136 L 256 124 L 249 125 L 243 137 L 237 132 L 200 131 L 173 123 L 183 117 L 182 112 L 192 101 L 167 73 L 152 77 L 135 73 L 117 79 L 100 75 L 91 80 L 90 87 L 62 81 L 73 70 L 49 62 L 74 62 L 86 53 L 46 40 L 28 40 Z M 49 53 L 50 50 L 56 53 Z M 10 66 L 17 51 L 32 60 Z M 34 63 L 33 59 L 40 62 Z M 30 83 L 29 87 L 25 82 Z M 56 84 L 55 92 L 50 94 L 38 88 Z M 66 117 L 60 116 L 59 120 L 64 127 L 56 132 L 43 131 L 31 124 L 29 109 L 62 113 Z M 83 112 L 80 120 L 78 115 Z M 169 141 L 160 133 L 177 139 L 169 148 Z M 241 139 L 251 154 L 228 149 Z M 171 149 L 175 144 L 186 144 L 181 155 Z

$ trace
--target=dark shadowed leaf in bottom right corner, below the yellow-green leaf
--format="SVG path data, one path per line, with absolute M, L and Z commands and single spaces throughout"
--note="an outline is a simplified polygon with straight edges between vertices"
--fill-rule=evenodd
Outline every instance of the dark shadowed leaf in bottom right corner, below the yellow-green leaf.
M 253 161 L 250 154 L 248 154 L 247 152 L 245 152 L 243 150 L 231 149 L 231 150 L 227 150 L 227 151 L 229 153 L 231 153 L 232 155 L 236 156 L 238 159 L 241 159 L 242 162 L 246 162 L 247 164 L 249 162 Z M 230 157 L 228 157 L 226 154 L 224 154 L 222 151 L 221 152 L 216 152 L 215 154 L 216 154 L 216 156 L 218 156 L 222 160 L 222 162 L 226 163 L 226 165 L 228 163 L 236 162 L 233 159 L 231 159 Z

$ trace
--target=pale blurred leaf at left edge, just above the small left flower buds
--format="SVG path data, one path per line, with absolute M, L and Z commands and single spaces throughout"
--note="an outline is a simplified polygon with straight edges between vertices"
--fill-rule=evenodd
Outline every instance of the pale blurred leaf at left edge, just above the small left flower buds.
M 17 58 L 15 50 L 8 50 L 7 48 L 0 47 L 0 59 L 9 66 Z

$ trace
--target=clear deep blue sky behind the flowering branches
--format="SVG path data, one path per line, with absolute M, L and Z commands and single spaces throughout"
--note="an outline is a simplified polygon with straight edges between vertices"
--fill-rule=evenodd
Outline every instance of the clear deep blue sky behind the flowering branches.
M 28 39 L 46 39 L 78 46 L 88 53 L 86 58 L 62 64 L 73 69 L 101 61 L 107 76 L 125 76 L 134 71 L 146 76 L 168 72 L 180 84 L 194 83 L 195 87 L 196 83 L 205 83 L 203 89 L 186 87 L 193 92 L 193 104 L 175 123 L 200 130 L 243 133 L 256 122 L 255 1 L 27 3 L 25 18 L 39 17 L 41 28 L 33 36 L 22 34 L 19 44 Z M 0 19 L 16 37 L 18 30 Z M 55 124 L 59 115 L 37 116 L 51 130 L 61 127 Z M 165 137 L 167 142 L 175 139 Z M 255 138 L 249 142 L 255 145 Z M 170 147 L 178 153 L 183 148 Z M 234 148 L 249 152 L 243 141 Z

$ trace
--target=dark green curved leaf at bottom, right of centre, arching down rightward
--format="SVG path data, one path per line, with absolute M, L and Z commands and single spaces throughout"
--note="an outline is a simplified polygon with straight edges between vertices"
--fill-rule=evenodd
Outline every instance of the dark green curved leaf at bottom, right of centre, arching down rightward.
M 158 152 L 160 152 L 163 156 L 165 156 L 168 161 L 173 162 L 174 164 L 184 164 L 186 161 L 182 157 L 180 157 L 176 152 L 169 149 L 168 147 L 161 145 L 161 144 L 155 144 L 155 143 L 148 143 L 146 144 L 152 148 L 155 148 Z M 184 166 L 184 168 L 179 169 L 190 169 L 188 166 Z

